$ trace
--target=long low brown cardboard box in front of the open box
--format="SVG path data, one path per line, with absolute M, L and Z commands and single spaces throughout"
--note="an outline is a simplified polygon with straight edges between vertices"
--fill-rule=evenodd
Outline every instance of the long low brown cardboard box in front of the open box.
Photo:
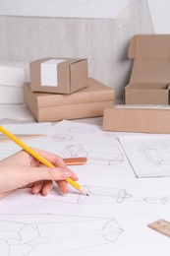
M 170 106 L 117 105 L 104 109 L 103 130 L 116 132 L 170 133 Z

